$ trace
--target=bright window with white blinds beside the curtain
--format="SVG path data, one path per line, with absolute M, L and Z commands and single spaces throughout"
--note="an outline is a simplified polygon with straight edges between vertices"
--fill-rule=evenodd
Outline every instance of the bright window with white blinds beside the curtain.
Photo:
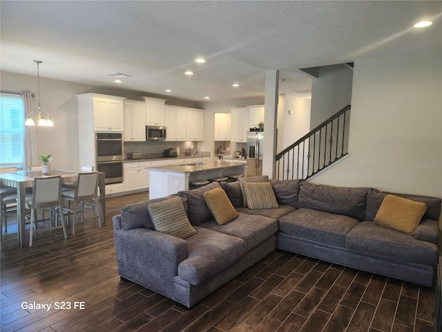
M 25 111 L 21 95 L 0 93 L 0 165 L 23 167 Z

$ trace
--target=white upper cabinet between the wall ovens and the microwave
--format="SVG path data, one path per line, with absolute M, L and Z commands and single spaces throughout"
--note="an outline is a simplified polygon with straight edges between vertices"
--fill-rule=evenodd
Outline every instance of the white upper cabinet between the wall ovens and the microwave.
M 146 105 L 138 100 L 124 100 L 123 140 L 146 140 Z

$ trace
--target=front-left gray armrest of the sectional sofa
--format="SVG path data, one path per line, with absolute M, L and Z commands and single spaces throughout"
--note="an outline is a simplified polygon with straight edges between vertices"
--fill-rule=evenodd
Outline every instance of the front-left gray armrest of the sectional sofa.
M 187 242 L 148 228 L 114 230 L 114 237 L 119 275 L 170 296 Z

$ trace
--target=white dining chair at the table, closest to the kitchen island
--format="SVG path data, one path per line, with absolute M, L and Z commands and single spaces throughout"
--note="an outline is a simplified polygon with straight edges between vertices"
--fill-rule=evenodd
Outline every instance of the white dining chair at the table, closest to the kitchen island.
M 102 227 L 98 212 L 98 172 L 79 173 L 77 182 L 73 190 L 64 190 L 61 192 L 61 199 L 66 201 L 66 206 L 63 211 L 68 214 L 68 222 L 70 213 L 73 214 L 72 234 L 75 234 L 75 220 L 77 213 L 81 214 L 81 220 L 84 217 L 84 207 L 88 205 L 93 208 L 95 215 L 92 218 L 98 219 L 99 227 Z M 73 208 L 70 208 L 70 202 L 73 203 Z M 79 205 L 79 209 L 77 208 Z

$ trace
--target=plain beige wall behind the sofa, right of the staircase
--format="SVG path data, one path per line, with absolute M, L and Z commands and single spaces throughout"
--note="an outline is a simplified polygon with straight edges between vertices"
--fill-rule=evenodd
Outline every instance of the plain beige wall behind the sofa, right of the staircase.
M 349 157 L 314 182 L 441 197 L 441 58 L 356 60 Z

